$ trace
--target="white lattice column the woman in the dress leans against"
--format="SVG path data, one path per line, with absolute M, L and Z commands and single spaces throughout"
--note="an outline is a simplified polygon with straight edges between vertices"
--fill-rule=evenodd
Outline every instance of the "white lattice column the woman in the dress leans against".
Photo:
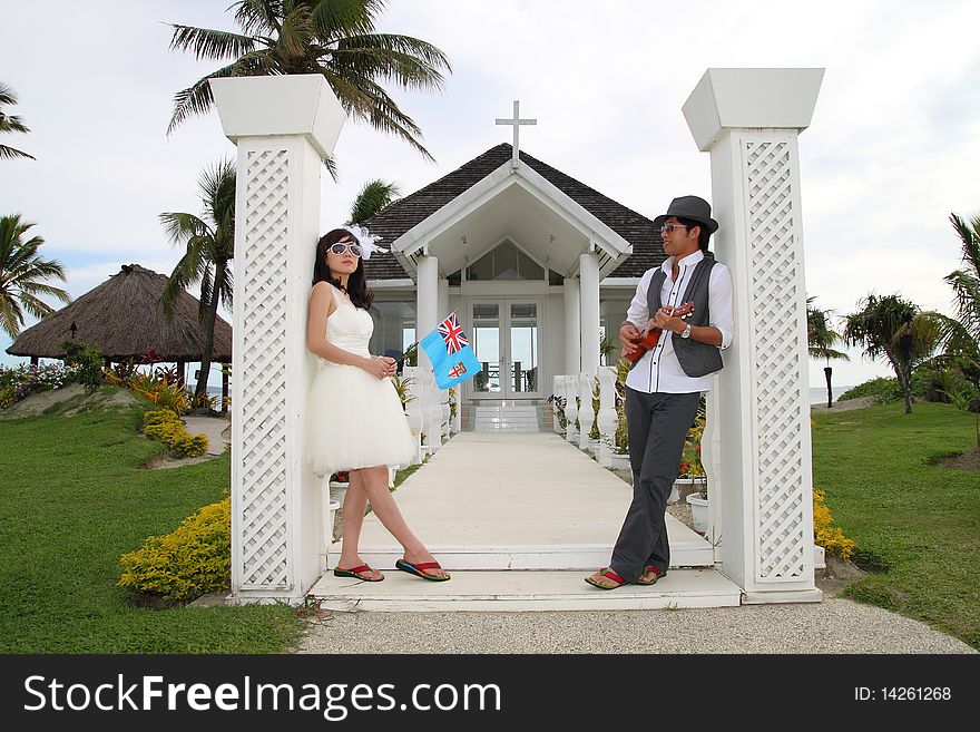
M 232 594 L 298 602 L 320 577 L 321 480 L 303 460 L 315 360 L 306 309 L 320 175 L 344 111 L 321 76 L 212 80 L 238 147 L 232 418 Z

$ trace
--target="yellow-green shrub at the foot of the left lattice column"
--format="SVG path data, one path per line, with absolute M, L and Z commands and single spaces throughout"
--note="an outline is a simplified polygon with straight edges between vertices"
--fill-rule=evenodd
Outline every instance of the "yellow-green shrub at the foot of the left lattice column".
M 167 601 L 226 589 L 232 576 L 232 499 L 205 506 L 177 530 L 149 537 L 119 562 L 120 586 Z

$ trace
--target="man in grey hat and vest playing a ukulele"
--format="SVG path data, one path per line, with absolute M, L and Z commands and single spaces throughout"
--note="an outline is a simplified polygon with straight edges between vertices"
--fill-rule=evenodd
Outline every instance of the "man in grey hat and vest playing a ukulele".
M 735 332 L 732 276 L 708 252 L 708 238 L 718 228 L 708 202 L 675 198 L 654 225 L 667 260 L 640 279 L 619 341 L 626 353 L 634 353 L 639 329 L 663 332 L 626 379 L 633 502 L 609 566 L 586 578 L 601 589 L 653 585 L 667 573 L 667 497 L 700 396 L 710 388 L 710 374 L 722 369 L 721 352 Z M 685 303 L 693 303 L 693 312 L 682 318 L 675 311 Z

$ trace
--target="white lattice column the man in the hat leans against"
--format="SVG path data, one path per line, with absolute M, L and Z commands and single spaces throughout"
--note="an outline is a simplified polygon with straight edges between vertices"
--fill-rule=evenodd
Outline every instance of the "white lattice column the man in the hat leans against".
M 823 69 L 708 69 L 684 104 L 710 152 L 714 248 L 735 290 L 735 341 L 703 449 L 716 556 L 745 603 L 821 598 L 797 135 L 822 79 Z

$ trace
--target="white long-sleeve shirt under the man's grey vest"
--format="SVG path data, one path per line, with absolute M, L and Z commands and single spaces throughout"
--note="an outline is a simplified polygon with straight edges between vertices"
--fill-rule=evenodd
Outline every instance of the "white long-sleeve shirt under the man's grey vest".
M 698 250 L 694 254 L 688 254 L 679 261 L 679 271 L 677 282 L 674 282 L 674 257 L 667 257 L 667 261 L 660 265 L 667 273 L 664 280 L 664 286 L 660 290 L 661 305 L 673 305 L 675 308 L 682 305 L 682 296 L 690 282 L 690 275 L 694 273 L 695 265 L 704 258 L 704 253 Z M 656 274 L 658 267 L 647 270 L 640 277 L 639 285 L 636 287 L 636 295 L 629 303 L 629 310 L 626 311 L 626 320 L 643 329 L 647 321 L 653 316 L 647 304 L 647 291 L 650 286 L 650 280 Z M 717 328 L 722 333 L 722 345 L 719 349 L 724 351 L 732 344 L 735 335 L 735 315 L 733 311 L 732 297 L 732 273 L 721 262 L 715 262 L 712 267 L 710 280 L 708 280 L 708 310 L 709 324 Z M 651 393 L 655 391 L 686 394 L 694 391 L 708 391 L 710 389 L 710 375 L 692 378 L 684 373 L 677 354 L 674 351 L 674 339 L 680 338 L 674 331 L 665 330 L 660 334 L 660 340 L 656 348 L 650 349 L 643 354 L 639 362 L 633 367 L 626 377 L 626 385 L 636 391 Z

